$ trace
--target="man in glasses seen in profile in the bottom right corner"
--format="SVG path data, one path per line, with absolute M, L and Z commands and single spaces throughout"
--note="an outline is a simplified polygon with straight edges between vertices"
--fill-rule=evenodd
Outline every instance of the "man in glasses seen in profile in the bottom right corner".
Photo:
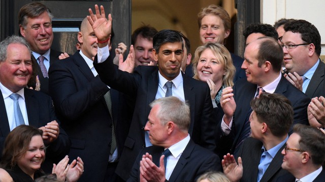
M 279 181 L 324 181 L 325 134 L 312 126 L 297 124 L 282 150 L 282 168 L 295 177 L 284 175 Z

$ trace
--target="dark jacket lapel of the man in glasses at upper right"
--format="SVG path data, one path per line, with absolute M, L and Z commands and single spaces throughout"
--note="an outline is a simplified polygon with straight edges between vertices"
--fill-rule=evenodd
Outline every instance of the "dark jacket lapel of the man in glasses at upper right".
M 314 95 L 319 84 L 324 80 L 324 69 L 325 64 L 320 61 L 306 89 L 305 94 L 310 98 Z

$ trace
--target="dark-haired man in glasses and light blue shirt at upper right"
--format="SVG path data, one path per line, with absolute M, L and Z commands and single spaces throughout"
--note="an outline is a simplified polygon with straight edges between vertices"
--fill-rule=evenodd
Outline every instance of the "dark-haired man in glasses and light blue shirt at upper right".
M 305 20 L 290 21 L 284 25 L 284 30 L 281 45 L 288 71 L 284 76 L 313 98 L 308 107 L 308 119 L 311 125 L 320 127 L 325 124 L 325 64 L 319 59 L 319 32 Z

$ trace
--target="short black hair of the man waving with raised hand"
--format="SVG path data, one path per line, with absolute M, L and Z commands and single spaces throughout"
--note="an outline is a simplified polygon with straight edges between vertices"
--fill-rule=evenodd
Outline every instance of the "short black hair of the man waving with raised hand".
M 155 34 L 155 36 L 152 39 L 153 49 L 156 50 L 157 53 L 159 53 L 159 49 L 161 45 L 168 42 L 171 43 L 181 42 L 182 50 L 183 50 L 184 43 L 183 43 L 182 35 L 180 34 L 179 31 L 170 30 L 170 29 L 164 29 Z

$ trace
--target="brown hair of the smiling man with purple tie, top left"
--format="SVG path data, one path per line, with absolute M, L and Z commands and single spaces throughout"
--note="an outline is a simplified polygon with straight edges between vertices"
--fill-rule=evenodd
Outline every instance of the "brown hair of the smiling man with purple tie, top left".
M 35 18 L 40 16 L 42 13 L 47 12 L 52 21 L 53 15 L 51 10 L 48 9 L 45 5 L 38 2 L 28 3 L 20 8 L 18 13 L 18 23 L 26 29 L 27 18 Z

